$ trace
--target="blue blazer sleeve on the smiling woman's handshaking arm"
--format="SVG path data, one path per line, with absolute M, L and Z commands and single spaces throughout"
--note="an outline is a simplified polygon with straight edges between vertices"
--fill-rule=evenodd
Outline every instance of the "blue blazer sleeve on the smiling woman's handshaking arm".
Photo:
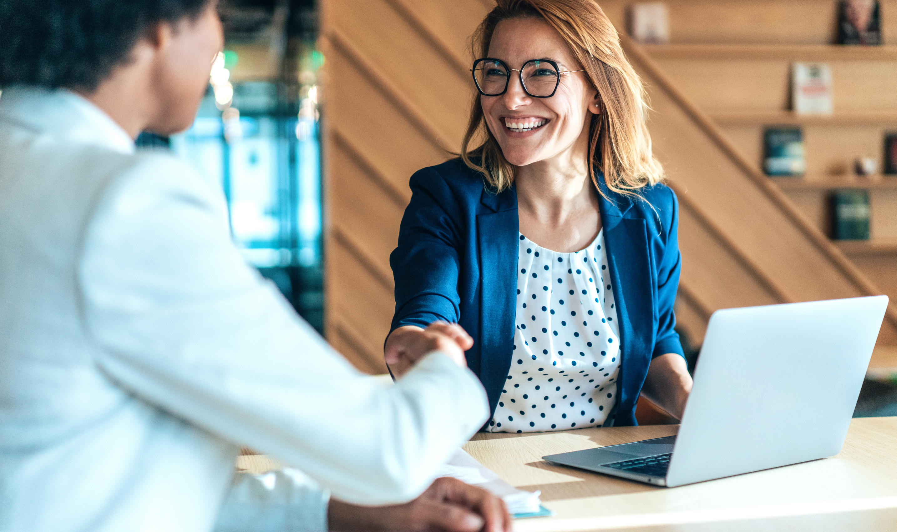
M 437 170 L 411 177 L 411 203 L 405 208 L 398 246 L 389 256 L 396 282 L 396 327 L 427 327 L 437 320 L 457 322 L 460 297 L 460 208 Z

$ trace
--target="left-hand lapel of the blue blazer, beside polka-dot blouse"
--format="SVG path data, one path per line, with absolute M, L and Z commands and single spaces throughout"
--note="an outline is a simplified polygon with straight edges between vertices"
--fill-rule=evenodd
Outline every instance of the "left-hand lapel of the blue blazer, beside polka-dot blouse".
M 483 189 L 481 203 L 488 208 L 485 209 L 487 212 L 476 216 L 481 265 L 480 360 L 476 362 L 479 362 L 480 379 L 494 412 L 508 375 L 514 342 L 519 231 L 517 191 L 509 188 L 501 194 L 491 194 Z

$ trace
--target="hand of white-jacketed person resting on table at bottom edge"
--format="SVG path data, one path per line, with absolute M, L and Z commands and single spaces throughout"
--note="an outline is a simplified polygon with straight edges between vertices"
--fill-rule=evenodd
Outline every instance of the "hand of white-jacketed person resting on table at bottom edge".
M 504 501 L 455 478 L 437 478 L 414 501 L 396 506 L 355 506 L 330 500 L 334 532 L 510 532 Z

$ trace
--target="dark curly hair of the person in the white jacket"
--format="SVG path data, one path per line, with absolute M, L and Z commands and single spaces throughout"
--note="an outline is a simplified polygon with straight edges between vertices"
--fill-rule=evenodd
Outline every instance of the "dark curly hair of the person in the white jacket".
M 95 90 L 152 26 L 214 0 L 0 0 L 0 88 Z

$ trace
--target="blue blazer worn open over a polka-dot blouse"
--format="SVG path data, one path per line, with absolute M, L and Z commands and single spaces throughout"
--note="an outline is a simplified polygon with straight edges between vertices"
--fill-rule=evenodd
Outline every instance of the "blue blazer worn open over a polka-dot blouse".
M 608 269 L 620 327 L 621 365 L 615 419 L 634 425 L 651 359 L 683 354 L 673 330 L 681 259 L 678 203 L 664 185 L 642 199 L 598 185 Z M 414 173 L 398 247 L 389 256 L 396 280 L 396 327 L 457 322 L 474 338 L 467 365 L 483 382 L 492 413 L 508 376 L 516 319 L 518 210 L 511 187 L 494 194 L 460 159 Z M 652 208 L 653 207 L 653 208 Z

